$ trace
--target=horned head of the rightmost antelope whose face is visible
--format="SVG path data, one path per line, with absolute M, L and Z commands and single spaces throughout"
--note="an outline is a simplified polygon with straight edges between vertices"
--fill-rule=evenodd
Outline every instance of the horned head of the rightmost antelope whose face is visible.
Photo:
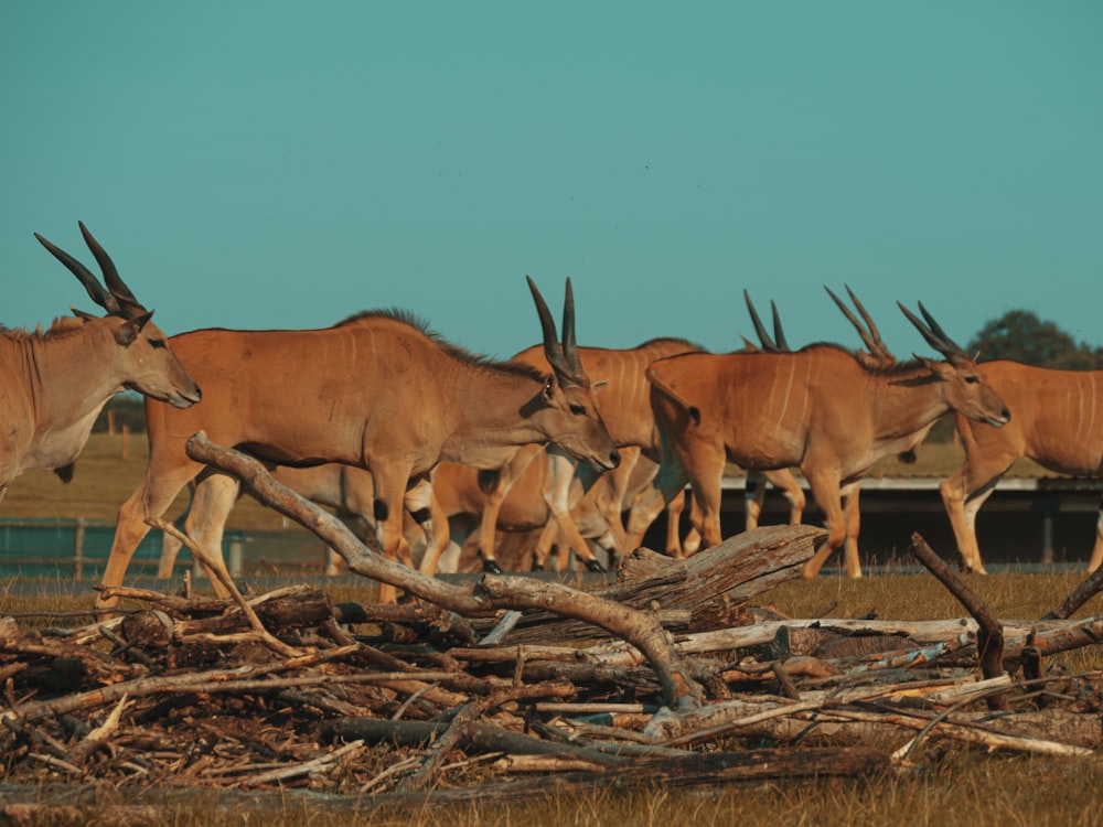
M 1010 411 L 988 383 L 981 366 L 946 335 L 942 326 L 927 312 L 922 302 L 919 303 L 919 311 L 927 320 L 925 324 L 903 304 L 900 302 L 897 304 L 908 316 L 908 321 L 923 334 L 927 343 L 945 356 L 945 362 L 927 359 L 918 355 L 915 358 L 943 383 L 943 393 L 950 406 L 978 422 L 996 428 L 1005 425 L 1011 418 Z

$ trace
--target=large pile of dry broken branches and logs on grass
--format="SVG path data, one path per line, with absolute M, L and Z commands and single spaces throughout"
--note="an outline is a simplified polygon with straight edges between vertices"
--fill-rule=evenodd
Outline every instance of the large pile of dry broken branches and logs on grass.
M 201 437 L 190 450 L 409 600 L 120 588 L 106 597 L 136 608 L 106 622 L 32 633 L 0 620 L 0 764 L 35 801 L 43 785 L 84 785 L 79 797 L 107 782 L 161 796 L 303 788 L 360 807 L 502 802 L 875 775 L 932 741 L 1061 755 L 1103 743 L 1103 675 L 1043 668 L 1100 640 L 1103 619 L 1067 620 L 1099 577 L 1042 621 L 1000 622 L 915 536 L 970 617 L 782 619 L 751 601 L 799 577 L 824 533 L 774 526 L 688 560 L 641 550 L 592 591 L 451 586 L 367 551 L 247 457 Z

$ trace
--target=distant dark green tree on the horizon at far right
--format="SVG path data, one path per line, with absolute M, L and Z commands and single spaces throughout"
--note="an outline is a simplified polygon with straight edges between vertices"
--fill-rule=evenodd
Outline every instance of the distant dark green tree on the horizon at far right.
M 1029 310 L 1011 310 L 988 321 L 965 350 L 979 353 L 984 362 L 1016 359 L 1067 370 L 1103 368 L 1103 347 L 1078 344 L 1057 324 Z

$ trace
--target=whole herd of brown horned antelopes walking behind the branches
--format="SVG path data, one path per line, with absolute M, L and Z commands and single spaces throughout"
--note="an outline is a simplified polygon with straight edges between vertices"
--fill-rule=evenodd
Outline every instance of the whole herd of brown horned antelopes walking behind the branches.
M 829 290 L 866 350 L 793 350 L 777 308 L 771 336 L 749 297 L 759 342 L 731 353 L 682 339 L 580 347 L 569 279 L 559 332 L 528 279 L 543 342 L 507 362 L 472 355 L 397 312 L 363 312 L 322 330 L 206 329 L 167 339 L 83 224 L 81 232 L 106 287 L 35 237 L 105 315 L 74 310 L 45 333 L 0 333 L 9 423 L 0 498 L 25 471 L 65 479 L 107 400 L 125 388 L 142 394 L 149 464 L 119 511 L 106 586 L 122 582 L 150 523 L 185 486 L 184 530 L 225 568 L 222 535 L 239 484 L 188 455 L 186 440 L 201 430 L 336 508 L 388 559 L 429 573 L 440 569 L 457 534 L 449 527 L 461 517 L 491 572 L 501 571 L 499 530 L 542 529 L 534 567 L 561 545 L 600 570 L 591 544 L 609 560 L 622 558 L 664 508 L 668 554 L 714 546 L 722 539 L 720 486 L 731 462 L 748 471 L 747 528 L 767 480 L 786 493 L 791 520 L 800 522 L 799 469 L 827 528 L 805 577 L 838 548 L 846 573 L 860 577 L 863 474 L 882 457 L 912 451 L 949 411 L 965 463 L 941 493 L 967 570 L 984 572 L 976 514 L 1016 459 L 1103 473 L 1103 370 L 1008 361 L 982 368 L 921 303 L 922 318 L 899 307 L 941 359 L 898 362 L 857 298 L 849 293 L 860 320 Z M 687 488 L 692 530 L 683 538 Z M 171 558 L 162 563 L 171 567 Z M 1103 508 L 1090 567 L 1101 561 Z M 394 597 L 382 588 L 381 600 Z M 100 609 L 110 606 L 100 600 Z

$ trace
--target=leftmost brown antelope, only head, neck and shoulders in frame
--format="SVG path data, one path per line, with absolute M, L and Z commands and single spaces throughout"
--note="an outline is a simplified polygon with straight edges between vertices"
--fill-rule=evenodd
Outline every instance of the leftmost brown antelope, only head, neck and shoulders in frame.
M 92 433 L 107 400 L 122 389 L 186 408 L 200 388 L 169 347 L 164 333 L 119 278 L 103 247 L 82 223 L 81 233 L 104 273 L 105 288 L 73 256 L 35 238 L 77 277 L 107 311 L 58 320 L 45 333 L 0 333 L 0 411 L 7 438 L 0 445 L 0 500 L 26 471 L 52 469 L 62 479 Z

